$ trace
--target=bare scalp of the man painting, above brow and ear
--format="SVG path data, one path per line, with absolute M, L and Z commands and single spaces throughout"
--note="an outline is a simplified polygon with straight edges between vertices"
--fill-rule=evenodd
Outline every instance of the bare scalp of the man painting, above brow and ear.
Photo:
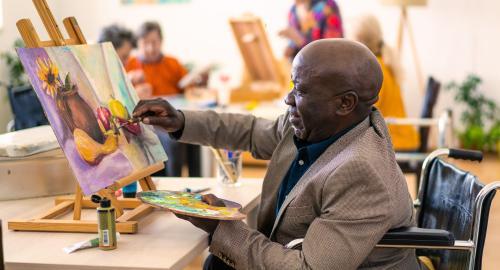
M 322 39 L 305 46 L 295 57 L 294 70 L 335 95 L 353 91 L 359 103 L 372 105 L 382 86 L 377 58 L 363 44 L 345 39 Z M 298 68 L 298 69 L 297 69 Z

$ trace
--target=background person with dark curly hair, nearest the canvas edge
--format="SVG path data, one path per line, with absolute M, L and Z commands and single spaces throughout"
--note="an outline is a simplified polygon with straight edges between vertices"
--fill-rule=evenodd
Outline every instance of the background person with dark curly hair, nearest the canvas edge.
M 116 24 L 104 27 L 99 35 L 98 42 L 111 42 L 123 66 L 127 64 L 132 50 L 137 47 L 137 39 L 134 33 Z M 132 80 L 132 84 L 139 98 L 149 97 L 151 95 L 151 85 L 145 82 L 142 71 L 135 71 L 129 74 L 129 77 Z

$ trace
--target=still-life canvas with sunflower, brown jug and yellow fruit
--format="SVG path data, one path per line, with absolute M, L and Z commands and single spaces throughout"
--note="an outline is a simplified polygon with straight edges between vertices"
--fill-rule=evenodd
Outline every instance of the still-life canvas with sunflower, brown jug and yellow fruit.
M 17 53 L 83 193 L 167 159 L 154 129 L 132 121 L 138 97 L 111 43 Z

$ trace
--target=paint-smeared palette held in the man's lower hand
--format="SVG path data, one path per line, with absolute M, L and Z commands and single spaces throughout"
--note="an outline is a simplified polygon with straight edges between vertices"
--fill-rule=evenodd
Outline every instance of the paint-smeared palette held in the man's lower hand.
M 144 203 L 166 208 L 186 216 L 218 220 L 242 220 L 246 218 L 239 211 L 241 205 L 238 203 L 223 200 L 226 207 L 212 206 L 203 202 L 200 194 L 157 190 L 139 192 L 137 197 Z

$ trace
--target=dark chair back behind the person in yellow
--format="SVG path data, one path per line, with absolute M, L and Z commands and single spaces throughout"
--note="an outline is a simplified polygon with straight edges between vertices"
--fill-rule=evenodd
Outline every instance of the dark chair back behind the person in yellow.
M 437 98 L 439 96 L 439 90 L 441 89 L 441 83 L 436 81 L 432 76 L 429 77 L 427 81 L 427 89 L 425 90 L 424 103 L 422 104 L 422 112 L 420 118 L 432 118 L 434 115 L 434 107 L 436 106 Z M 419 152 L 427 152 L 428 141 L 429 141 L 429 127 L 421 126 L 419 128 L 420 133 L 420 147 Z

